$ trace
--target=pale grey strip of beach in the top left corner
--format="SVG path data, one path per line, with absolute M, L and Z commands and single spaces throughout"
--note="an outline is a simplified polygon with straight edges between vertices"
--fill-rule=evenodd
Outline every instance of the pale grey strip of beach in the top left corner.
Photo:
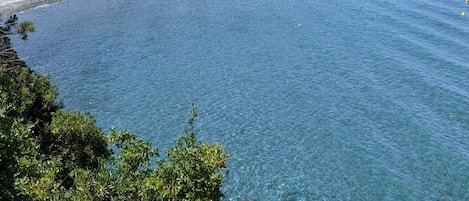
M 62 0 L 0 0 L 0 16 L 6 17 L 41 5 L 57 3 Z

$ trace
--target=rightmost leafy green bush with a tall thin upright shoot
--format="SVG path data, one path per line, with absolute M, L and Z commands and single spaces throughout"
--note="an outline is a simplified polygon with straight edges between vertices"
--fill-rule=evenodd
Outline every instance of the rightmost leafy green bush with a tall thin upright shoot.
M 197 142 L 194 105 L 191 114 L 189 128 L 177 140 L 176 147 L 166 153 L 168 159 L 158 161 L 160 168 L 153 176 L 165 199 L 218 200 L 223 196 L 220 186 L 228 155 L 220 144 Z

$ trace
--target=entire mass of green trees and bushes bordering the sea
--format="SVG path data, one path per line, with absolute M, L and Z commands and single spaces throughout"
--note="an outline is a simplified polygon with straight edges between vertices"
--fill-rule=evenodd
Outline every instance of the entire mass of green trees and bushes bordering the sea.
M 128 130 L 105 135 L 91 114 L 61 110 L 49 76 L 18 58 L 9 36 L 34 26 L 17 21 L 0 25 L 0 200 L 220 200 L 228 154 L 197 141 L 194 105 L 164 159 Z

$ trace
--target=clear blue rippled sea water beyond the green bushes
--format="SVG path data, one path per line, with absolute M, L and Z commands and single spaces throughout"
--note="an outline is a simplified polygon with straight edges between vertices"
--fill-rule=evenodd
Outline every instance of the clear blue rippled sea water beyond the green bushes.
M 225 200 L 469 200 L 463 0 L 66 0 L 15 41 L 71 110 L 161 151 L 190 114 Z

